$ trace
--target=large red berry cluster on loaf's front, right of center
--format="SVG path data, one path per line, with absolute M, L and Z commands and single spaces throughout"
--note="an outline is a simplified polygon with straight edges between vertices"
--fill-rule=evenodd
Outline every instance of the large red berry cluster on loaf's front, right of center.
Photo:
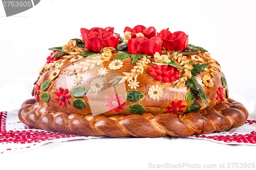
M 180 71 L 171 65 L 154 65 L 154 67 L 147 67 L 147 71 L 150 73 L 150 76 L 155 78 L 159 82 L 167 83 L 174 82 L 179 79 Z

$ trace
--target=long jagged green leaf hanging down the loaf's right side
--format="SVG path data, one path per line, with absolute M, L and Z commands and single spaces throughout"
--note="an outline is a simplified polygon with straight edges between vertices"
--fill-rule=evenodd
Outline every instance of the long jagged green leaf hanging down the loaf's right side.
M 191 79 L 187 79 L 185 84 L 189 86 L 198 96 L 200 96 L 206 106 L 210 106 L 204 90 L 202 89 L 201 85 L 198 84 L 197 80 L 194 77 L 191 77 Z

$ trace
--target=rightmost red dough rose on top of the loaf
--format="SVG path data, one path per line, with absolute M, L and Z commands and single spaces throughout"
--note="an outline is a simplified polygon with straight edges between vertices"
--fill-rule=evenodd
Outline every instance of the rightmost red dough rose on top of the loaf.
M 183 51 L 187 48 L 188 35 L 182 31 L 171 33 L 169 30 L 162 30 L 157 37 L 163 40 L 163 47 L 167 51 Z

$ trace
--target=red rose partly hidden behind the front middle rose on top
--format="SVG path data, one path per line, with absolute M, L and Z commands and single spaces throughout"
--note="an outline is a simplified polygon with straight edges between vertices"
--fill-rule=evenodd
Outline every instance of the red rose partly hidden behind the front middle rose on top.
M 148 27 L 145 28 L 144 26 L 135 26 L 133 29 L 131 29 L 130 27 L 125 27 L 124 28 L 124 33 L 126 31 L 129 31 L 132 33 L 132 37 L 131 38 L 136 38 L 136 34 L 138 33 L 142 33 L 144 35 L 144 37 L 150 39 L 152 37 L 156 36 L 156 29 L 154 27 Z

